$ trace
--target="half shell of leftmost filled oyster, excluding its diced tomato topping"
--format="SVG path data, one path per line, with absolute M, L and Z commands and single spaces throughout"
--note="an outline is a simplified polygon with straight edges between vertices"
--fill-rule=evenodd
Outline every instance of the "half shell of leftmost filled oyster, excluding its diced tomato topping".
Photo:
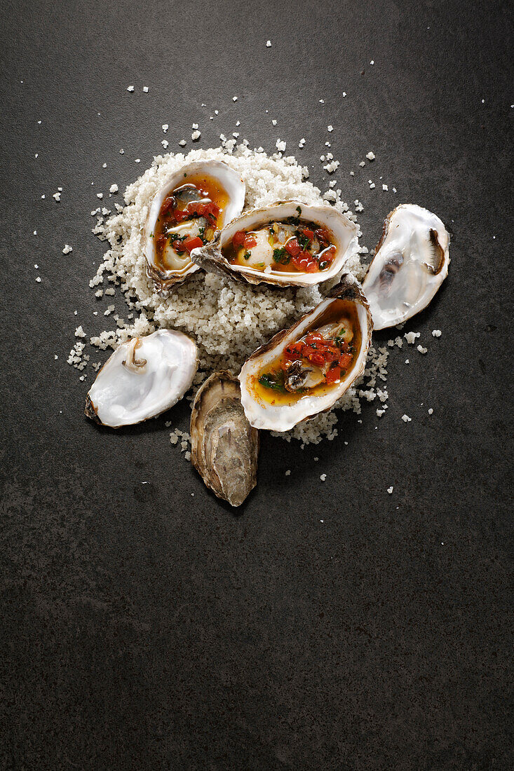
M 211 187 L 210 197 L 201 197 L 199 194 L 196 187 L 199 180 L 200 183 L 201 180 L 207 180 L 207 187 Z M 222 161 L 205 160 L 190 163 L 168 177 L 154 195 L 142 236 L 142 247 L 147 260 L 147 274 L 154 281 L 154 288 L 157 292 L 165 291 L 174 284 L 181 284 L 195 271 L 198 271 L 198 265 L 191 261 L 188 251 L 183 253 L 176 251 L 171 246 L 171 239 L 167 240 L 167 244 L 162 249 L 157 244 L 157 231 L 159 230 L 157 224 L 160 223 L 161 208 L 164 200 L 172 193 L 175 194 L 182 206 L 187 206 L 193 202 L 201 203 L 216 199 L 215 203 L 218 204 L 221 212 L 218 215 L 213 235 L 216 228 L 223 227 L 238 214 L 241 214 L 245 204 L 245 183 L 238 173 Z M 190 217 L 187 221 L 181 221 L 174 227 L 166 226 L 164 236 L 174 235 L 178 238 L 200 236 L 202 234 L 201 228 L 204 228 L 205 233 L 206 225 L 207 222 L 204 217 Z

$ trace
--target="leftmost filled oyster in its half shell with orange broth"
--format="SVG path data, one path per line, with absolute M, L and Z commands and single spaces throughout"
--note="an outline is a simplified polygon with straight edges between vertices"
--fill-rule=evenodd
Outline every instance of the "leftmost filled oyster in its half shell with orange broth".
M 215 208 L 207 217 L 202 216 L 201 204 L 209 203 L 215 204 L 218 214 Z M 244 204 L 245 183 L 222 161 L 190 163 L 168 177 L 152 200 L 142 237 L 147 273 L 154 281 L 155 291 L 181 284 L 198 271 L 190 251 L 186 247 L 181 251 L 180 244 L 195 238 L 207 242 L 218 229 L 241 214 Z M 188 206 L 192 209 L 189 215 Z M 178 219 L 174 211 L 180 214 Z

